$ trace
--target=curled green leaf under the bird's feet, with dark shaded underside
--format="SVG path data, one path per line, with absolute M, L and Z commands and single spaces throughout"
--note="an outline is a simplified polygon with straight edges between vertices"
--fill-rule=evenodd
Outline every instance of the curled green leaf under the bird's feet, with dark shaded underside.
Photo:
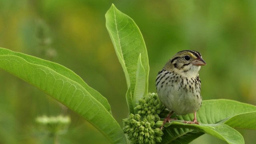
M 193 118 L 193 114 L 178 116 L 178 120 L 193 120 Z M 201 123 L 199 129 L 198 125 L 194 124 L 190 124 L 189 127 L 187 124 L 177 122 L 172 123 L 173 126 L 166 124 L 169 127 L 164 130 L 162 143 L 188 144 L 204 133 L 231 144 L 244 143 L 240 134 L 233 128 L 255 130 L 256 106 L 234 100 L 204 100 L 197 112 L 197 119 Z

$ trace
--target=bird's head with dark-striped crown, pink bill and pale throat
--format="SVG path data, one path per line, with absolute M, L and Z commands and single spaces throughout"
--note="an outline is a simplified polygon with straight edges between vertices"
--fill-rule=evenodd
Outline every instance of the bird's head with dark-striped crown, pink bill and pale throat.
M 185 77 L 198 75 L 201 66 L 206 65 L 202 55 L 194 50 L 177 52 L 164 66 L 165 70 L 174 71 Z

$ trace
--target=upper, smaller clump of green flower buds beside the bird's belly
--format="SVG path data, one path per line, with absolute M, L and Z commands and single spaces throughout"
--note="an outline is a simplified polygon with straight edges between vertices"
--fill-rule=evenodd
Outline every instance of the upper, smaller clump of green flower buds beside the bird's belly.
M 160 102 L 156 93 L 148 93 L 139 100 L 139 103 L 134 108 L 137 114 L 142 118 L 146 118 L 148 114 L 156 117 L 156 121 L 160 120 L 158 114 L 163 110 L 164 105 Z

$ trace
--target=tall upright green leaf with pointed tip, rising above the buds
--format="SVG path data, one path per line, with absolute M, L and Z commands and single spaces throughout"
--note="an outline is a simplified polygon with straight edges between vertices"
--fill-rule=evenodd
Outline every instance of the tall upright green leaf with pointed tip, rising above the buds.
M 120 12 L 114 4 L 112 4 L 105 16 L 108 33 L 114 45 L 118 60 L 124 70 L 128 90 L 130 89 L 130 92 L 126 93 L 126 96 L 129 98 L 126 99 L 130 99 L 130 97 L 132 98 L 132 100 L 128 101 L 129 110 L 131 110 L 135 106 L 134 103 L 130 103 L 134 102 L 135 89 L 136 94 L 148 93 L 149 64 L 146 45 L 138 26 L 132 18 Z M 136 78 L 138 72 L 138 58 L 140 54 L 141 65 L 145 71 L 145 79 Z M 141 74 L 141 72 L 139 73 Z M 143 80 L 145 82 L 145 90 L 143 88 L 135 88 L 136 84 L 142 83 L 136 82 L 136 80 Z M 141 98 L 142 96 L 143 95 L 136 95 L 136 99 L 139 97 Z

